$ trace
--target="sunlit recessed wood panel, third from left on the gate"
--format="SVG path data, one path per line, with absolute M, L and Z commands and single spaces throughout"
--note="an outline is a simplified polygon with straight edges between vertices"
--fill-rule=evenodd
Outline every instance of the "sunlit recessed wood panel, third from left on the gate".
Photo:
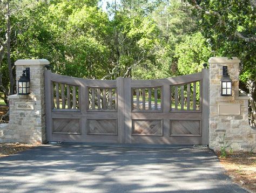
M 162 120 L 132 120 L 132 135 L 162 134 Z

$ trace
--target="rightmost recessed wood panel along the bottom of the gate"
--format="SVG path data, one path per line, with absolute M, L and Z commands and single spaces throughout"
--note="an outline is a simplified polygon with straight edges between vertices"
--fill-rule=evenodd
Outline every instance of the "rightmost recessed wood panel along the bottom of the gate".
M 171 120 L 172 136 L 201 136 L 200 120 Z

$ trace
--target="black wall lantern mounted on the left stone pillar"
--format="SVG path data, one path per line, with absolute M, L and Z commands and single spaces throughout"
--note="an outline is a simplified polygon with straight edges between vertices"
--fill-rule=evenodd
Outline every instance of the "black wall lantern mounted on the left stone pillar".
M 29 68 L 23 71 L 18 80 L 18 94 L 30 94 L 30 71 Z

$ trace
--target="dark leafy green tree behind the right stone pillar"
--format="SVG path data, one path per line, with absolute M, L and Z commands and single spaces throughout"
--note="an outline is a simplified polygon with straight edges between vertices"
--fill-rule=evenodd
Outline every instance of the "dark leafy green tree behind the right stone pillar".
M 256 10 L 250 0 L 189 0 L 200 14 L 198 26 L 215 56 L 237 56 L 240 87 L 250 97 L 251 125 L 256 125 Z

